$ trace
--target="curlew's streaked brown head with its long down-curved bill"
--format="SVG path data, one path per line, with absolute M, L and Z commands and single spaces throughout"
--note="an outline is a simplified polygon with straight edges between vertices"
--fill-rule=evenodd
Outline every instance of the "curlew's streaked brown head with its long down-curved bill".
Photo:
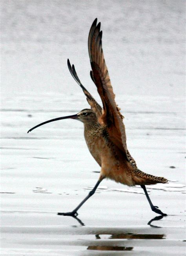
M 35 127 L 31 128 L 27 133 L 31 132 L 35 128 L 37 128 L 41 125 L 44 125 L 46 123 L 50 123 L 50 122 L 57 121 L 57 120 L 62 120 L 62 119 L 68 119 L 68 118 L 79 120 L 79 121 L 83 122 L 84 124 L 90 124 L 91 125 L 91 124 L 97 124 L 98 123 L 97 116 L 96 116 L 95 112 L 93 110 L 89 109 L 89 108 L 85 108 L 85 109 L 81 110 L 80 112 L 78 112 L 75 115 L 54 118 L 54 119 L 45 121 L 43 123 L 40 123 L 40 124 L 36 125 Z

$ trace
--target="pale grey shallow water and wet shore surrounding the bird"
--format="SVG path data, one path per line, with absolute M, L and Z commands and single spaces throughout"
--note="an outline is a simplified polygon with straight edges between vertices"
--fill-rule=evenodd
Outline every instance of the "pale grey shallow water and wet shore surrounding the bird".
M 2 3 L 1 255 L 184 255 L 183 2 Z M 88 107 L 67 58 L 97 95 L 86 48 L 97 16 L 128 149 L 141 170 L 170 181 L 147 186 L 168 214 L 162 219 L 154 219 L 140 187 L 109 180 L 78 218 L 58 216 L 88 194 L 100 167 L 80 122 L 61 120 L 27 134 Z

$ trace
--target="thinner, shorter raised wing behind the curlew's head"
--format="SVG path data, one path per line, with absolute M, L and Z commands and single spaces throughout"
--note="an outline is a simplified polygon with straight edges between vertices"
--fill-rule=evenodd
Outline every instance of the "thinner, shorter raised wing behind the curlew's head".
M 91 109 L 97 114 L 97 118 L 99 119 L 100 116 L 102 115 L 102 107 L 92 97 L 92 95 L 88 92 L 88 90 L 86 90 L 86 88 L 82 85 L 82 83 L 80 82 L 78 75 L 76 73 L 75 67 L 74 67 L 74 65 L 71 66 L 69 59 L 67 60 L 67 65 L 68 65 L 71 75 L 73 76 L 75 81 L 78 83 L 78 85 L 82 88 Z

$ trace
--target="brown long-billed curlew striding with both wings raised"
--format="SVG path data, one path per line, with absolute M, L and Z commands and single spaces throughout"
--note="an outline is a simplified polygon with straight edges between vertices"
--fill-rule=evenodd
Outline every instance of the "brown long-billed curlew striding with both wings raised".
M 78 209 L 95 193 L 100 182 L 105 178 L 109 178 L 128 186 L 140 185 L 145 192 L 151 210 L 162 216 L 166 216 L 157 206 L 152 204 L 145 185 L 167 183 L 168 180 L 163 177 L 146 174 L 139 170 L 135 160 L 128 151 L 125 126 L 123 123 L 124 117 L 120 113 L 120 108 L 115 103 L 115 95 L 102 50 L 102 31 L 100 31 L 100 22 L 97 24 L 97 19 L 95 19 L 90 28 L 88 50 L 92 69 L 90 75 L 97 86 L 103 107 L 95 101 L 88 90 L 82 85 L 75 71 L 75 66 L 71 66 L 69 60 L 67 60 L 69 71 L 82 88 L 91 108 L 85 108 L 78 112 L 78 114 L 72 116 L 48 120 L 28 131 L 29 133 L 36 127 L 52 121 L 67 118 L 79 120 L 84 124 L 84 137 L 88 149 L 101 167 L 98 181 L 88 196 L 73 211 L 58 213 L 58 215 L 76 217 L 78 215 Z

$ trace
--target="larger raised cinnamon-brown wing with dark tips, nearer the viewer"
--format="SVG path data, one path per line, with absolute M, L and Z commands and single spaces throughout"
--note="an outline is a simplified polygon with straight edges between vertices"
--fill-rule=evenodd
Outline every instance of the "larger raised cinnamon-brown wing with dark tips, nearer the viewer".
M 101 125 L 107 127 L 110 140 L 117 145 L 128 158 L 126 146 L 125 126 L 123 116 L 115 103 L 115 95 L 111 86 L 107 66 L 102 50 L 102 31 L 97 19 L 93 22 L 88 38 L 88 50 L 91 63 L 91 78 L 97 86 L 103 103 L 103 114 L 100 117 Z

